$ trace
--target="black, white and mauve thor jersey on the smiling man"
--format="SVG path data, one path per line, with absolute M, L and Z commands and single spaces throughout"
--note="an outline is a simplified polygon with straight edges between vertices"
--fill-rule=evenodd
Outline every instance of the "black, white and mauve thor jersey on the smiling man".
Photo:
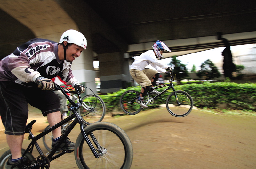
M 57 75 L 69 85 L 79 83 L 72 74 L 71 63 L 59 60 L 58 43 L 47 39 L 31 39 L 0 60 L 0 81 L 31 86 L 39 76 L 52 79 Z

